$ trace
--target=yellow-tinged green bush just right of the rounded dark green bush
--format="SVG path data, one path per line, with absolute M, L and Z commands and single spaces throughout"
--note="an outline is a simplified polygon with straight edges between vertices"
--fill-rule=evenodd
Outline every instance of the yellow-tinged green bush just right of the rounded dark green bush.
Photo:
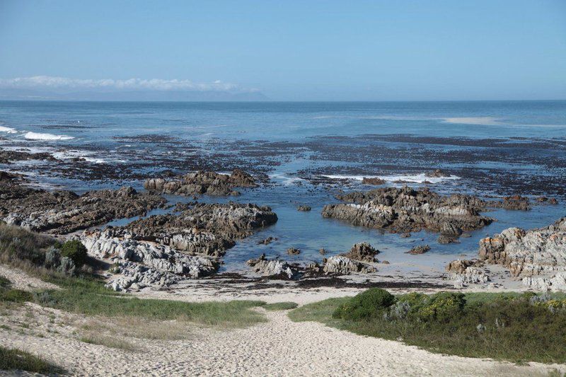
M 423 321 L 437 321 L 447 323 L 463 314 L 466 298 L 463 294 L 454 292 L 439 292 L 433 294 L 421 306 L 416 315 Z

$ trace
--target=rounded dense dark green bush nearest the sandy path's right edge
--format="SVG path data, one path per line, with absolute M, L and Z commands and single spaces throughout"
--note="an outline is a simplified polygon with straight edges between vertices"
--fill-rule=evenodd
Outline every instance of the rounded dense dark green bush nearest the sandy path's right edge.
M 354 321 L 374 318 L 394 302 L 395 296 L 385 289 L 370 288 L 339 306 L 333 313 L 333 317 Z

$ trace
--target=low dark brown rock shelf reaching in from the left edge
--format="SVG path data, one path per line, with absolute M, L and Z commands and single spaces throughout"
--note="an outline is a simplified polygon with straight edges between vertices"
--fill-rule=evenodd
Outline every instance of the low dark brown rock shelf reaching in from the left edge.
M 144 216 L 163 207 L 166 199 L 132 187 L 119 190 L 38 190 L 13 179 L 0 180 L 0 219 L 31 231 L 66 234 L 105 224 L 113 219 Z

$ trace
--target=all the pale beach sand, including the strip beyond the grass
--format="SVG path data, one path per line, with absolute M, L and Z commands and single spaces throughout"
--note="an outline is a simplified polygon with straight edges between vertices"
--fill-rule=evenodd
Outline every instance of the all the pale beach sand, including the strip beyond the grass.
M 0 272 L 18 282 L 18 286 L 42 283 L 6 267 Z M 242 295 L 238 289 L 226 289 L 219 294 L 209 288 L 194 290 L 195 294 L 185 291 L 183 295 L 167 292 L 138 295 L 185 301 L 246 296 L 270 302 L 306 303 L 357 291 L 285 287 L 247 291 Z M 5 347 L 38 354 L 75 376 L 545 376 L 555 368 L 562 373 L 566 371 L 566 365 L 516 366 L 432 354 L 401 342 L 363 337 L 320 323 L 294 323 L 284 311 L 257 310 L 267 315 L 267 323 L 236 330 L 190 326 L 190 336 L 183 340 L 120 337 L 138 348 L 132 352 L 81 342 L 81 324 L 88 322 L 88 318 L 28 303 L 0 315 L 0 325 L 6 326 L 0 327 L 0 340 Z M 104 318 L 98 321 L 110 322 Z M 0 375 L 11 376 L 13 372 L 0 371 Z

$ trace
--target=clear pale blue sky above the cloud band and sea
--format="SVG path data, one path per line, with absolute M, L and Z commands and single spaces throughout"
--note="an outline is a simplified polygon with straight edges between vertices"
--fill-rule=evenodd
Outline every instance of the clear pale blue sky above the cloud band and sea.
M 566 1 L 0 0 L 0 79 L 30 76 L 275 100 L 566 99 Z

